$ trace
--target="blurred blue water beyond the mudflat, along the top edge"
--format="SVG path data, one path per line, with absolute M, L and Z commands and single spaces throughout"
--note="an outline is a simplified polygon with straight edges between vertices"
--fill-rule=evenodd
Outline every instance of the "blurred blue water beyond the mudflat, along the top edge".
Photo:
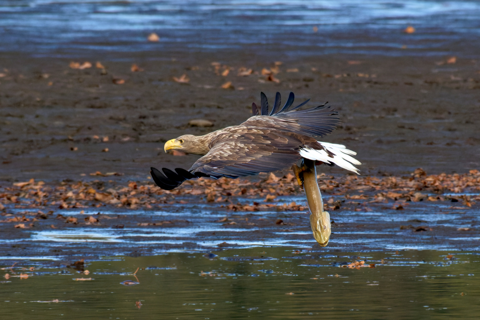
M 480 3 L 467 0 L 3 0 L 0 50 L 57 57 L 141 51 L 156 59 L 239 49 L 284 58 L 331 53 L 476 58 L 479 15 Z M 404 34 L 410 24 L 417 32 Z M 160 42 L 146 41 L 151 32 Z

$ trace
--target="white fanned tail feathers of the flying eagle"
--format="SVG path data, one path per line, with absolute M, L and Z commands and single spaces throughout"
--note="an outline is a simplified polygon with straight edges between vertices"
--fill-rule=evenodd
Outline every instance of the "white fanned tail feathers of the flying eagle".
M 325 150 L 315 150 L 310 147 L 300 148 L 300 155 L 310 160 L 322 161 L 328 164 L 334 163 L 339 167 L 359 174 L 360 170 L 352 165 L 361 165 L 360 161 L 351 156 L 357 154 L 355 151 L 348 150 L 343 144 L 320 141 L 318 143 L 334 154 L 334 157 L 329 156 Z

